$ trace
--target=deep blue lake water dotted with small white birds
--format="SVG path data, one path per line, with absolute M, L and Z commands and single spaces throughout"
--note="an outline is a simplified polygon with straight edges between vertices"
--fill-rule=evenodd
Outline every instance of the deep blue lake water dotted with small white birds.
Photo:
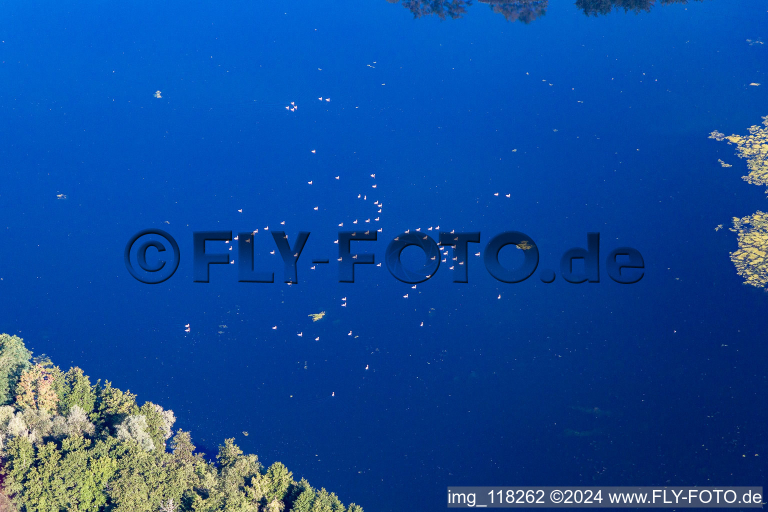
M 708 136 L 768 115 L 768 4 L 530 3 L 528 23 L 478 2 L 0 6 L 0 331 L 367 512 L 442 510 L 449 485 L 762 484 L 768 295 L 727 228 L 765 187 Z M 123 256 L 149 228 L 180 246 L 157 285 Z M 481 233 L 467 283 L 450 249 L 415 289 L 388 272 L 417 228 Z M 214 230 L 258 230 L 275 282 L 194 282 Z M 353 283 L 346 230 L 382 263 Z M 475 256 L 508 230 L 538 247 L 524 282 Z M 274 231 L 311 233 L 296 284 Z M 600 282 L 565 282 L 588 232 Z M 639 282 L 608 277 L 620 246 Z

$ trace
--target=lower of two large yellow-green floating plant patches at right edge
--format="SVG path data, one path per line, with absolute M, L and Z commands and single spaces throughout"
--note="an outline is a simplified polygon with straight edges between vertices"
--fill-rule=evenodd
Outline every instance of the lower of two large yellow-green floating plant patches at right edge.
M 744 284 L 768 289 L 768 213 L 733 217 L 731 231 L 737 233 L 739 249 L 730 253 L 730 260 Z

